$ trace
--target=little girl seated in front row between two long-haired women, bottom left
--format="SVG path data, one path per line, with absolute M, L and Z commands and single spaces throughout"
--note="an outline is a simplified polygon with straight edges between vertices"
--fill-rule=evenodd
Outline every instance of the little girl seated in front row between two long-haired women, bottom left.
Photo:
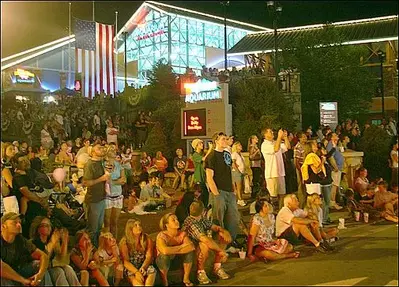
M 111 232 L 100 234 L 98 244 L 98 257 L 100 258 L 100 270 L 104 277 L 114 277 L 114 286 L 118 286 L 123 278 L 123 264 L 119 256 L 119 248 Z

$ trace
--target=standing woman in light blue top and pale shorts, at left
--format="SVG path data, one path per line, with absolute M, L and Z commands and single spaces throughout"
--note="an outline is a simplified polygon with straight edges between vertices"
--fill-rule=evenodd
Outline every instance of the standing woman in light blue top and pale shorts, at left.
M 116 160 L 117 154 L 110 149 L 106 156 L 105 169 L 111 174 L 109 193 L 105 197 L 104 228 L 116 238 L 118 219 L 123 207 L 122 185 L 126 183 L 125 171 Z

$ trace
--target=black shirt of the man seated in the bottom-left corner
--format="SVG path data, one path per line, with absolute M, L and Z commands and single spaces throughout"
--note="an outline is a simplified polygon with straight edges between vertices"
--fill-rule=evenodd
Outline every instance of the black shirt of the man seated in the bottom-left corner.
M 22 234 L 18 234 L 12 243 L 8 243 L 1 236 L 1 260 L 17 272 L 21 266 L 33 261 L 31 254 L 35 250 L 36 246 Z

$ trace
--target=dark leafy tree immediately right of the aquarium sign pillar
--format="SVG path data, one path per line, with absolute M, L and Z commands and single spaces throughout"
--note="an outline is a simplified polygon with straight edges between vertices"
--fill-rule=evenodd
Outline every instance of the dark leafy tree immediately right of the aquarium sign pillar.
M 233 104 L 233 129 L 244 148 L 252 134 L 262 128 L 295 126 L 292 103 L 276 89 L 274 82 L 264 77 L 240 79 L 230 83 Z

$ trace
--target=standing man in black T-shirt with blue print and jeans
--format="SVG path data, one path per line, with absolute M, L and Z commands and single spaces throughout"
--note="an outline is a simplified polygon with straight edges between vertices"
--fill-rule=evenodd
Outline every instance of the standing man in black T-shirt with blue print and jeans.
M 235 240 L 240 221 L 237 198 L 233 192 L 231 154 L 226 151 L 227 136 L 223 132 L 213 135 L 215 149 L 205 160 L 206 180 L 210 190 L 213 222 L 227 229 Z

